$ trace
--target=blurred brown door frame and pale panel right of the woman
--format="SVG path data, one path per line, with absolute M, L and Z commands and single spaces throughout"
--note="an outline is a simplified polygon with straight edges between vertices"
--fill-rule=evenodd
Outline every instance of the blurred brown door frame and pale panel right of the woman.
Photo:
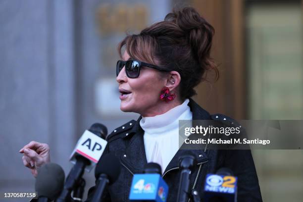
M 199 103 L 237 119 L 303 119 L 303 1 L 193 3 L 215 28 L 221 64 L 220 80 L 198 87 Z M 302 201 L 302 150 L 252 152 L 263 201 Z

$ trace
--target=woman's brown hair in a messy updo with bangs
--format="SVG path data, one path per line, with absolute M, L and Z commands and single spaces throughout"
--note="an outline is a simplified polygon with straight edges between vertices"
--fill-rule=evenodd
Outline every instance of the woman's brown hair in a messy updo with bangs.
M 152 24 L 140 34 L 127 35 L 118 45 L 120 57 L 125 46 L 134 59 L 157 64 L 181 76 L 181 100 L 196 95 L 196 87 L 207 70 L 216 64 L 210 57 L 213 27 L 192 7 L 168 13 L 164 21 Z

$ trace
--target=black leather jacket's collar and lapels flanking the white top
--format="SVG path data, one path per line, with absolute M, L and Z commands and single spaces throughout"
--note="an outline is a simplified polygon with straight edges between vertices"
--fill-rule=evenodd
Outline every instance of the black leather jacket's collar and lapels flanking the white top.
M 210 114 L 204 110 L 201 106 L 199 106 L 195 101 L 189 99 L 188 105 L 193 112 L 193 120 L 208 120 L 210 119 Z M 147 164 L 145 147 L 144 147 L 144 130 L 140 126 L 140 120 L 142 116 L 138 118 L 136 123 L 134 124 L 133 128 L 129 131 L 128 137 L 131 138 L 130 142 L 125 150 L 125 155 L 121 157 L 122 163 L 124 163 L 132 173 L 142 173 L 144 170 L 145 165 Z M 178 167 L 179 157 L 187 152 L 188 150 L 178 150 L 174 157 L 169 162 L 168 166 L 166 167 L 165 173 L 167 170 Z M 196 155 L 196 159 L 198 163 L 207 159 L 206 153 L 202 150 L 189 150 L 194 155 Z

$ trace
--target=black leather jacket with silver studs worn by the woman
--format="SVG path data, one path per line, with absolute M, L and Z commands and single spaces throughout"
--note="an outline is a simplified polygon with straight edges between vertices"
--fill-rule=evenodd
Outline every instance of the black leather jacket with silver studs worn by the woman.
M 193 112 L 193 120 L 217 120 L 225 118 L 221 114 L 210 115 L 202 109 L 195 101 L 190 99 L 188 104 Z M 105 202 L 127 202 L 133 175 L 142 173 L 147 164 L 143 134 L 140 127 L 140 119 L 132 120 L 119 128 L 115 129 L 107 136 L 108 145 L 104 152 L 115 154 L 121 162 L 121 173 L 118 180 L 113 183 L 104 193 Z M 225 121 L 226 122 L 226 121 Z M 178 158 L 186 150 L 179 150 L 172 158 L 165 171 L 163 179 L 169 186 L 168 202 L 176 202 L 180 169 Z M 238 177 L 238 202 L 260 202 L 262 201 L 258 178 L 256 175 L 253 157 L 250 150 L 191 150 L 196 155 L 198 164 L 191 174 L 192 189 L 200 192 L 203 198 L 203 186 L 205 175 L 215 173 L 221 167 L 230 168 L 234 175 Z M 89 202 L 94 195 L 95 187 L 89 190 L 87 201 Z

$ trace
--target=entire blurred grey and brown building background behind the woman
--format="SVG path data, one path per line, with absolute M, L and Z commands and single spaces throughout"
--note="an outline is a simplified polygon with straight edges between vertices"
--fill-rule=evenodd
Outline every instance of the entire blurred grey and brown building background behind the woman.
M 31 140 L 48 143 L 67 174 L 92 123 L 111 131 L 137 119 L 119 110 L 116 46 L 125 31 L 188 5 L 215 28 L 221 77 L 197 88 L 203 108 L 236 119 L 303 119 L 302 0 L 1 0 L 0 192 L 34 190 L 18 153 Z M 253 157 L 264 201 L 301 201 L 301 150 Z M 94 185 L 92 173 L 85 178 Z

